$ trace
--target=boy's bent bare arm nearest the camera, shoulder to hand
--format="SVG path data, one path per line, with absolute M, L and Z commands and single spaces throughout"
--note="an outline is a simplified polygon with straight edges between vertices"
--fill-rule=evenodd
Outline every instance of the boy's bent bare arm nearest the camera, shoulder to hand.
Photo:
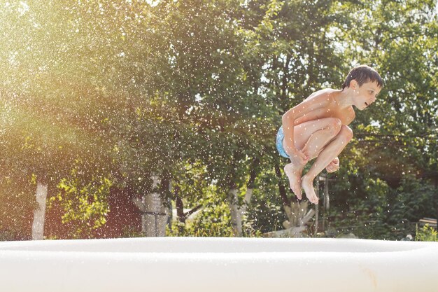
M 304 100 L 301 104 L 292 107 L 289 111 L 286 111 L 281 117 L 281 122 L 283 124 L 283 134 L 285 141 L 294 141 L 294 126 L 295 120 L 301 118 L 302 116 L 306 116 L 307 113 L 314 111 L 316 109 L 321 109 L 327 107 L 330 100 L 328 95 L 320 94 L 315 95 L 309 99 Z M 294 145 L 294 143 L 290 143 Z M 286 146 L 285 152 L 288 155 L 297 153 L 297 149 L 295 147 Z

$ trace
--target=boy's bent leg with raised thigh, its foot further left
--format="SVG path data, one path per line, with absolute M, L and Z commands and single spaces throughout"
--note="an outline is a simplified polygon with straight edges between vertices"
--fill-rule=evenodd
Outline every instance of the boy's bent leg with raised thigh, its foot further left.
M 318 153 L 328 142 L 337 136 L 341 130 L 341 121 L 337 118 L 321 118 L 296 125 L 294 127 L 295 148 L 308 155 L 311 159 L 318 156 Z M 287 141 L 284 141 L 287 145 Z M 302 170 L 304 165 L 285 165 L 284 171 L 288 176 L 290 188 L 301 200 Z

